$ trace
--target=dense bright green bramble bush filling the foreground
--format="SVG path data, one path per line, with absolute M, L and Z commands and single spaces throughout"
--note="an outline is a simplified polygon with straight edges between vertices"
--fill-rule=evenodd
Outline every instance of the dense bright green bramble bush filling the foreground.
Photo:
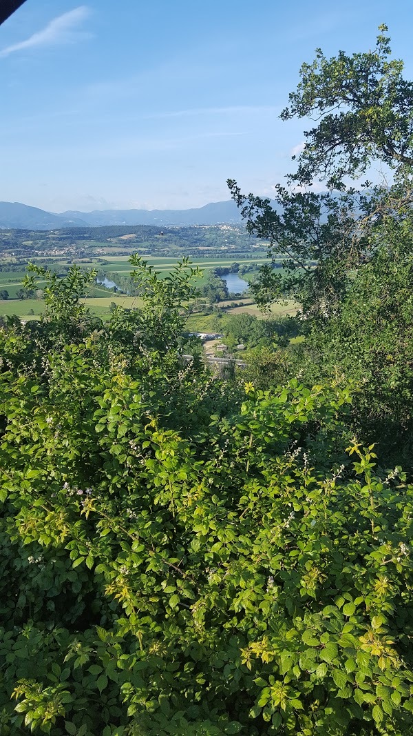
M 183 364 L 193 274 L 134 265 L 0 330 L 0 734 L 412 734 L 413 486 L 351 388 Z

